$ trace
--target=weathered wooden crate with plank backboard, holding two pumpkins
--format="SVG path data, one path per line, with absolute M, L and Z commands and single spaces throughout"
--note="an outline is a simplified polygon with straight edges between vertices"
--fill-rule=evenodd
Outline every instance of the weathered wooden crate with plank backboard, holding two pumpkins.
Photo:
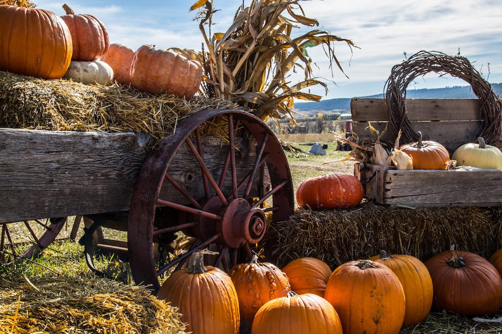
M 442 143 L 450 151 L 473 141 L 480 126 L 476 99 L 407 100 L 408 118 L 424 139 Z M 353 99 L 352 128 L 358 136 L 370 136 L 368 122 L 376 129 L 388 123 L 383 99 Z M 394 141 L 390 131 L 384 140 Z M 388 166 L 357 163 L 354 175 L 364 193 L 377 203 L 412 207 L 502 206 L 501 170 L 395 170 Z

